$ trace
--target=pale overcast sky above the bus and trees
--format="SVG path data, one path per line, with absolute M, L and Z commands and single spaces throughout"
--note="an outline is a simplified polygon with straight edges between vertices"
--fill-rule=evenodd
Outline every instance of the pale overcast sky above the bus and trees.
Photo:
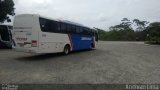
M 123 18 L 160 21 L 160 0 L 13 0 L 15 13 L 40 14 L 108 30 Z

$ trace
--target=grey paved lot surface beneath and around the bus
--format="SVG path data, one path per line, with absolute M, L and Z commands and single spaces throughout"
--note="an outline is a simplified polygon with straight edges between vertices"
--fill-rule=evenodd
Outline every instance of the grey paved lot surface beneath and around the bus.
M 160 46 L 99 42 L 96 50 L 32 55 L 0 50 L 0 83 L 160 83 Z

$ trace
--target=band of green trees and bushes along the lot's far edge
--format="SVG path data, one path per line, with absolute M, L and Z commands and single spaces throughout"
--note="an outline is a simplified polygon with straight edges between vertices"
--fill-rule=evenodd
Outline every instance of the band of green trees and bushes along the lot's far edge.
M 119 25 L 111 26 L 109 31 L 96 28 L 99 39 L 103 41 L 146 41 L 150 44 L 160 44 L 160 22 L 150 23 L 127 18 Z

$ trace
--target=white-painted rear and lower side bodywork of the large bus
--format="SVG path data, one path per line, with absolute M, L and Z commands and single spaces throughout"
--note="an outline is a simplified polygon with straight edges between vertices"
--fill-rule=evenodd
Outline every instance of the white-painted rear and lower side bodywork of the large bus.
M 40 26 L 40 16 L 22 14 L 15 16 L 13 39 L 15 50 L 29 53 L 63 52 L 68 45 L 72 51 L 69 34 L 43 32 Z

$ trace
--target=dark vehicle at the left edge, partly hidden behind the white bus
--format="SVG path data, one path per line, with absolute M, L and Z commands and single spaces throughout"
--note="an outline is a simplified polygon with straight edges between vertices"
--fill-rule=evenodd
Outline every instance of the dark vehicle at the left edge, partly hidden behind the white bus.
M 10 25 L 0 25 L 0 48 L 12 48 L 12 30 Z

